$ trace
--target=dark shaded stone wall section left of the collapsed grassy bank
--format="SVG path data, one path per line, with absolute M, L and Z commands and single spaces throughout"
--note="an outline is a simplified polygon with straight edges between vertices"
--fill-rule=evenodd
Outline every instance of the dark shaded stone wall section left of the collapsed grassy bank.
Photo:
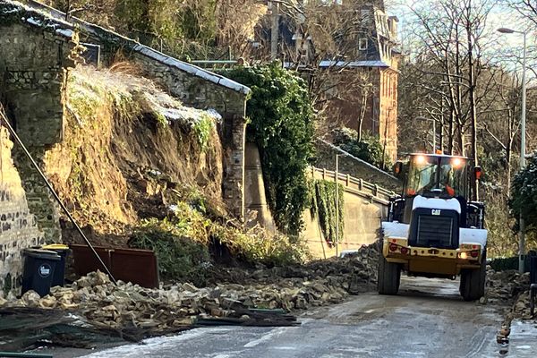
M 47 148 L 62 140 L 64 132 L 64 86 L 74 38 L 31 23 L 0 25 L 0 100 L 21 141 L 41 162 Z M 13 149 L 31 213 L 47 241 L 61 241 L 59 213 L 21 149 Z M 1 212 L 1 210 L 0 210 Z

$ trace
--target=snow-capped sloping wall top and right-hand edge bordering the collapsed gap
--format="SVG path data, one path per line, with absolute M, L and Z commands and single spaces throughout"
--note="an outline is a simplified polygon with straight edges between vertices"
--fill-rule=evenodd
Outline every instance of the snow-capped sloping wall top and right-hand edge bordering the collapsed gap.
M 97 25 L 74 17 L 70 17 L 69 22 L 64 21 L 64 13 L 46 5 L 32 3 L 32 7 L 28 7 L 8 0 L 4 0 L 4 3 L 0 4 L 0 24 L 12 26 L 13 22 L 28 19 L 24 25 L 28 25 L 29 21 L 32 25 L 37 23 L 39 26 L 32 29 L 37 33 L 52 30 L 55 36 L 64 36 L 64 40 L 69 40 L 72 36 L 78 39 L 80 35 L 81 43 L 98 47 L 99 62 L 106 66 L 113 64 L 116 55 L 126 55 L 128 61 L 139 64 L 147 77 L 180 98 L 185 105 L 216 109 L 223 117 L 220 132 L 225 147 L 223 197 L 230 213 L 243 218 L 245 114 L 250 89 Z M 61 41 L 57 39 L 58 43 Z M 50 58 L 64 61 L 68 59 L 68 54 L 68 51 L 64 51 L 63 54 Z

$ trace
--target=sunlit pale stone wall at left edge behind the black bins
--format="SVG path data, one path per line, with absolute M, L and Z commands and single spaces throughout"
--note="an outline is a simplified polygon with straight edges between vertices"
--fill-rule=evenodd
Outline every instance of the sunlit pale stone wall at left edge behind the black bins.
M 0 128 L 0 296 L 20 286 L 21 250 L 43 243 L 36 217 L 30 214 L 21 176 L 13 166 L 13 142 Z

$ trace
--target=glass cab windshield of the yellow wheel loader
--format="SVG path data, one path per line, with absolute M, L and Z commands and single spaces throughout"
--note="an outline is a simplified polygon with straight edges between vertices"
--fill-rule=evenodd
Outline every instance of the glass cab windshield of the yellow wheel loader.
M 467 162 L 462 157 L 411 156 L 405 194 L 467 198 Z

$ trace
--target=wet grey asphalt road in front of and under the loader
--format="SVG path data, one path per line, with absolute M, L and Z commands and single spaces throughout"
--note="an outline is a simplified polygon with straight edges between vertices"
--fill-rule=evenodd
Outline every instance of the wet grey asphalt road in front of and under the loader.
M 402 277 L 400 294 L 353 296 L 301 315 L 298 327 L 196 328 L 86 355 L 154 358 L 498 357 L 495 307 L 465 303 L 458 281 Z M 56 355 L 55 355 L 56 356 Z

